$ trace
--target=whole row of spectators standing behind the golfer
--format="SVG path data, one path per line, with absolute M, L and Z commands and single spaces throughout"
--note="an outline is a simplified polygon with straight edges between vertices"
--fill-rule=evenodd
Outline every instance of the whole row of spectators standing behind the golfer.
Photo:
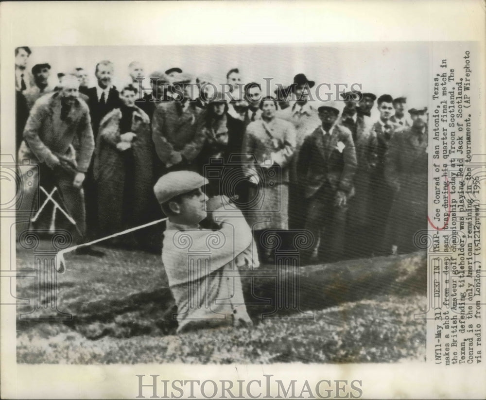
M 95 67 L 95 87 L 83 68 L 50 87 L 48 63 L 26 70 L 30 53 L 16 49 L 19 162 L 31 160 L 24 174 L 36 174 L 35 163 L 52 171 L 78 241 L 161 216 L 154 184 L 182 170 L 207 177 L 208 195 L 230 197 L 257 239 L 266 230 L 310 231 L 308 262 L 413 251 L 414 235 L 426 228 L 428 114 L 407 113 L 405 97 L 351 91 L 316 104 L 315 82 L 304 74 L 265 97 L 238 69 L 226 75 L 226 94 L 213 90 L 219 84 L 210 75 L 179 68 L 150 74 L 147 90 L 136 61 L 132 82 L 118 91 L 108 60 Z M 24 186 L 22 207 L 32 208 L 35 186 Z M 154 232 L 132 244 L 150 242 L 147 235 Z

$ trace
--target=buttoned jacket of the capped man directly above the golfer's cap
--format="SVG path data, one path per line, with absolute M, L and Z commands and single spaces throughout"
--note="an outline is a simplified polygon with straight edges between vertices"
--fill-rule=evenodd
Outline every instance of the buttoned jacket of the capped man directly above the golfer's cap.
M 177 163 L 177 155 L 191 162 L 206 139 L 201 129 L 203 110 L 190 103 L 181 114 L 178 107 L 177 102 L 158 104 L 152 117 L 152 139 L 157 156 L 166 167 Z

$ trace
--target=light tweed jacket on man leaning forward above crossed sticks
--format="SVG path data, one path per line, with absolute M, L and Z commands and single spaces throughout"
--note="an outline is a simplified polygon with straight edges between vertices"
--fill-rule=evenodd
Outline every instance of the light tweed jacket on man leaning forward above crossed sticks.
M 24 129 L 27 146 L 21 146 L 19 153 L 22 152 L 23 158 L 44 162 L 54 155 L 64 156 L 76 142 L 79 144 L 77 169 L 86 173 L 94 150 L 89 109 L 78 99 L 63 121 L 61 108 L 59 93 L 43 96 L 35 102 Z M 22 157 L 19 155 L 19 159 Z

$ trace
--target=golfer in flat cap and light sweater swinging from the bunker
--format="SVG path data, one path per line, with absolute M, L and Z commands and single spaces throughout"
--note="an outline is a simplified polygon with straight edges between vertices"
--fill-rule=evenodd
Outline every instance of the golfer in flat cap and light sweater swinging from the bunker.
M 236 207 L 226 211 L 227 198 L 208 200 L 202 190 L 207 183 L 195 172 L 178 171 L 154 187 L 169 217 L 162 262 L 177 306 L 178 333 L 252 325 L 238 271 L 259 266 L 251 229 Z M 201 228 L 208 216 L 217 229 Z

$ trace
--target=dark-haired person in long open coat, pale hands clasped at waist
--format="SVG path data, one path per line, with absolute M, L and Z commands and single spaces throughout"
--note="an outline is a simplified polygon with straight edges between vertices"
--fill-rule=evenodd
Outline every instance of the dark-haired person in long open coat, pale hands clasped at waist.
M 136 93 L 134 87 L 125 87 L 120 93 L 123 105 L 100 123 L 94 174 L 104 235 L 151 220 L 153 142 L 150 119 L 135 105 Z

